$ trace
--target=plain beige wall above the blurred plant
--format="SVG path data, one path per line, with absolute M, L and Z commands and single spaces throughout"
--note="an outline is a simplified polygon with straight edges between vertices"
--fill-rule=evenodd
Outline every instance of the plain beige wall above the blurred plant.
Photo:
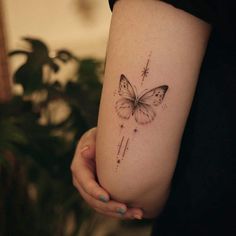
M 107 0 L 2 1 L 10 50 L 25 47 L 20 38 L 32 36 L 51 49 L 104 58 L 111 17 Z

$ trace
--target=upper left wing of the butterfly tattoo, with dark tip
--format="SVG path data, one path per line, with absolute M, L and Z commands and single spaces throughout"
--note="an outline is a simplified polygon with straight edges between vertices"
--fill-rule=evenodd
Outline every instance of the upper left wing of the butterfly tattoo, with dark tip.
M 118 94 L 121 97 L 130 99 L 132 101 L 134 101 L 136 98 L 136 94 L 134 92 L 134 89 L 133 89 L 131 83 L 123 74 L 120 76 Z

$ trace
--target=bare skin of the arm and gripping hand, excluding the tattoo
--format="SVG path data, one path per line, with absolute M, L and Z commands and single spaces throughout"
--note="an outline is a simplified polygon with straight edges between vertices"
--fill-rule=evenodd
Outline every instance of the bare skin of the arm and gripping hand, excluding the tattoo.
M 115 4 L 98 129 L 81 138 L 71 165 L 75 187 L 98 212 L 123 219 L 160 214 L 171 187 L 209 34 L 206 22 L 160 1 L 120 0 Z M 150 51 L 150 73 L 142 88 L 168 85 L 167 108 L 155 108 L 157 118 L 147 125 L 137 126 L 133 116 L 124 121 L 127 127 L 137 126 L 139 132 L 130 139 L 129 151 L 116 171 L 119 124 L 123 121 L 114 109 L 119 97 L 112 94 L 121 74 L 142 90 L 140 71 Z M 122 132 L 130 137 L 127 128 Z M 99 201 L 101 195 L 109 201 Z M 126 213 L 116 213 L 118 208 Z

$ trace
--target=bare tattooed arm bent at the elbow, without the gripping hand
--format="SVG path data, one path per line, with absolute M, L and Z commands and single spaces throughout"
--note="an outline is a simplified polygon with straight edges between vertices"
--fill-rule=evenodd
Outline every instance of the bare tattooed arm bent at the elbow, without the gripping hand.
M 120 0 L 110 29 L 96 145 L 111 197 L 144 216 L 162 209 L 210 26 L 154 0 Z

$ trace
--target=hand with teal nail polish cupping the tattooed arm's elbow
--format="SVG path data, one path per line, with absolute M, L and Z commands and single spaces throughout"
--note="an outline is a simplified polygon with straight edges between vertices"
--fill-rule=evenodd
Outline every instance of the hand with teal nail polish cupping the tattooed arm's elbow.
M 138 208 L 127 208 L 123 203 L 110 199 L 96 180 L 96 128 L 87 131 L 80 139 L 71 164 L 73 184 L 84 200 L 97 212 L 121 219 L 142 219 Z

